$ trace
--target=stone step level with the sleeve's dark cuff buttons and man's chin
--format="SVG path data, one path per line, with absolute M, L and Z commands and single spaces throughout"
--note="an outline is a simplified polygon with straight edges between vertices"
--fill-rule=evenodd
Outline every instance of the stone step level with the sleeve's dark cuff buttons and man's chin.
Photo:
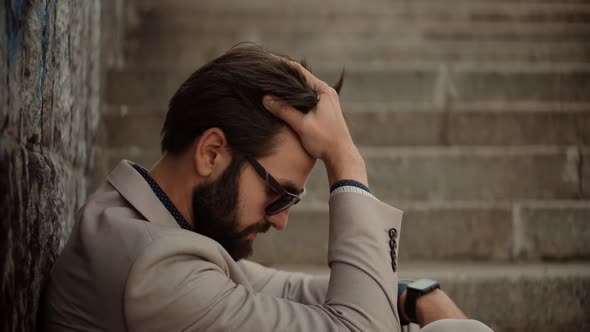
M 590 200 L 400 202 L 399 259 L 538 261 L 590 257 Z M 322 264 L 328 254 L 327 204 L 292 209 L 283 231 L 257 237 L 265 264 Z

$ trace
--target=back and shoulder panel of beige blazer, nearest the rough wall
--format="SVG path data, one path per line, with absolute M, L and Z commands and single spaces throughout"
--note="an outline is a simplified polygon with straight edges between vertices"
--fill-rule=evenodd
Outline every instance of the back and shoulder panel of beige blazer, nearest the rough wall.
M 44 324 L 125 330 L 124 291 L 134 262 L 154 244 L 174 246 L 179 238 L 195 241 L 191 235 L 150 223 L 114 187 L 103 184 L 78 211 L 53 266 Z

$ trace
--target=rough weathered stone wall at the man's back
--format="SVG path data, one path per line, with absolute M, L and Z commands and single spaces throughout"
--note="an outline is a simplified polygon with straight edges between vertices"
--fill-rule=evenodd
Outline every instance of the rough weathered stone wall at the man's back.
M 86 196 L 100 119 L 99 0 L 0 3 L 0 330 L 33 331 Z

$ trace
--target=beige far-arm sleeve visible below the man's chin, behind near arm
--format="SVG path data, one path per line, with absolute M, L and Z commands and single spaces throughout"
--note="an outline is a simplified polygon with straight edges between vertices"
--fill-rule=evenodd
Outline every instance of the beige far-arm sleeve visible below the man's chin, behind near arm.
M 245 259 L 238 265 L 256 292 L 303 304 L 321 304 L 326 299 L 329 275 L 280 271 Z

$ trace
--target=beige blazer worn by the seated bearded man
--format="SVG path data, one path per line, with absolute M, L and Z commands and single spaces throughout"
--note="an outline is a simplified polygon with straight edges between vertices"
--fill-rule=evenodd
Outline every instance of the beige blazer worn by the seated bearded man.
M 181 229 L 121 161 L 78 212 L 51 272 L 42 329 L 398 331 L 390 234 L 399 236 L 402 212 L 358 193 L 329 205 L 326 282 L 236 263 L 217 242 Z

